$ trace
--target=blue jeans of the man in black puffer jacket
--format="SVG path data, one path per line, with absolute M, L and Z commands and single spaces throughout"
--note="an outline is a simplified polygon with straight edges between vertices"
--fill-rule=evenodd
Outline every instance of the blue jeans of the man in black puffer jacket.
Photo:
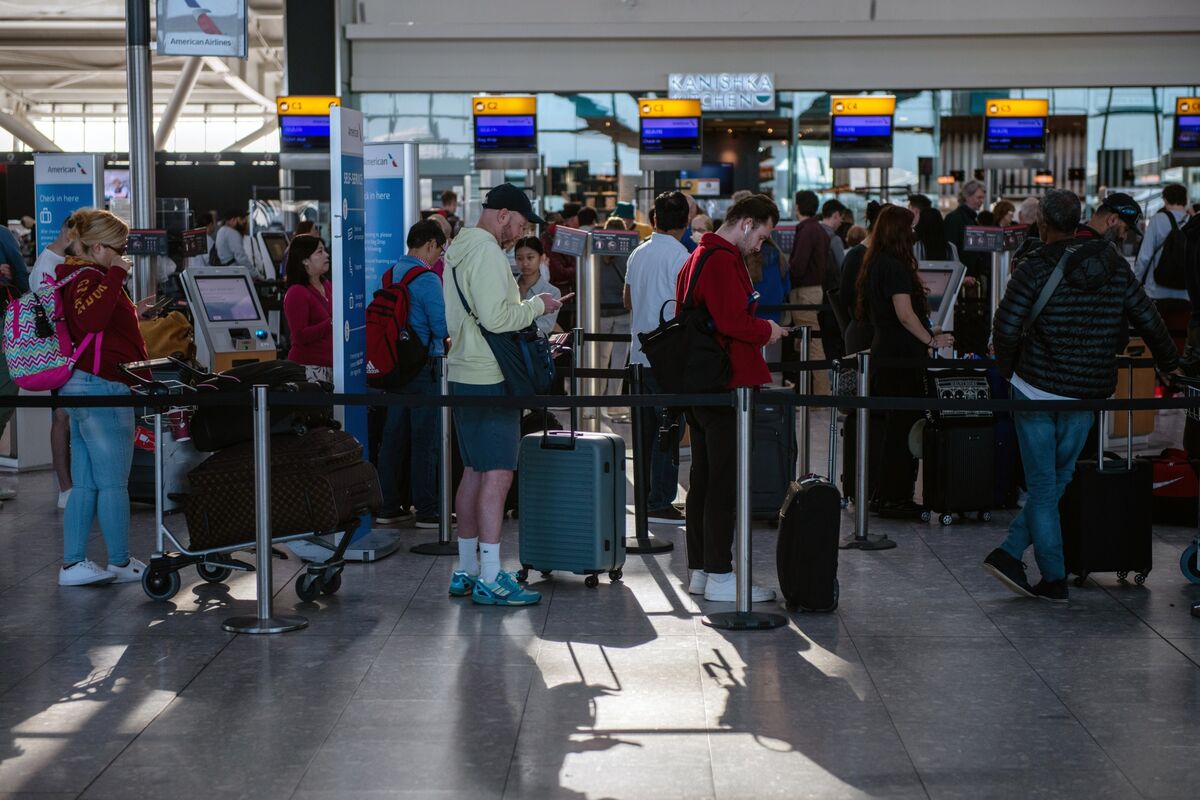
M 1016 389 L 1013 397 L 1028 399 Z M 1021 559 L 1033 545 L 1042 577 L 1061 581 L 1067 577 L 1067 567 L 1062 558 L 1058 499 L 1075 474 L 1075 459 L 1092 429 L 1092 413 L 1016 411 L 1013 420 L 1028 497 L 1008 527 L 1008 539 L 1001 547 L 1013 558 Z

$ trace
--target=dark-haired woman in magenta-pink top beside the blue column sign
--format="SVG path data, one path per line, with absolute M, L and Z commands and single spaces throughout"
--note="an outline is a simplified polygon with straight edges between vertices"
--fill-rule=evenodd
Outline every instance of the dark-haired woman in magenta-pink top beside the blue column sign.
M 296 236 L 284 269 L 288 291 L 283 295 L 283 315 L 292 336 L 288 359 L 308 367 L 324 367 L 328 373 L 334 366 L 334 293 L 325 277 L 329 273 L 325 242 L 316 236 Z

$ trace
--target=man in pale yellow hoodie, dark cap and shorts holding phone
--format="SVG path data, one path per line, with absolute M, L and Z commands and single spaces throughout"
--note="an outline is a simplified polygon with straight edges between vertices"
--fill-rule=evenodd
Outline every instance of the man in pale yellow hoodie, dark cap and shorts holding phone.
M 570 299 L 540 294 L 521 301 L 504 251 L 530 222 L 546 224 L 524 192 L 502 184 L 484 199 L 479 223 L 463 229 L 446 251 L 443 291 L 452 342 L 446 359 L 451 395 L 503 397 L 504 373 L 480 327 L 493 333 L 518 331 Z M 504 498 L 517 468 L 521 409 L 456 408 L 454 423 L 466 469 L 455 498 L 458 569 L 450 577 L 450 595 L 469 595 L 485 606 L 532 606 L 541 595 L 500 570 Z

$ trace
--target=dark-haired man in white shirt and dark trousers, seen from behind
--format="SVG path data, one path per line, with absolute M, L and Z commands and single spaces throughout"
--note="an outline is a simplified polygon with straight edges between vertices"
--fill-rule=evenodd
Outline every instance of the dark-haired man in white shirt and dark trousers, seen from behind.
M 661 392 L 661 386 L 654 379 L 637 336 L 659 326 L 660 312 L 664 319 L 676 315 L 676 282 L 688 260 L 688 248 L 679 241 L 688 228 L 688 197 L 683 192 L 664 192 L 654 198 L 654 233 L 630 253 L 625 266 L 624 300 L 631 312 L 632 332 L 629 361 L 642 365 L 643 389 L 655 395 Z M 647 507 L 650 522 L 682 524 L 684 515 L 672 505 L 679 486 L 679 467 L 672 453 L 658 446 L 666 409 L 642 408 L 637 413 L 642 415 L 641 451 L 649 457 L 644 474 L 649 475 Z

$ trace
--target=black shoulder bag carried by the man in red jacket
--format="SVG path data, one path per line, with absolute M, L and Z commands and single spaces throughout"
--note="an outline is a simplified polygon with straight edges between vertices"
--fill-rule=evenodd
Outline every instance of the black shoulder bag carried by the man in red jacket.
M 700 272 L 712 253 L 706 249 L 691 271 L 691 282 L 674 319 L 664 318 L 662 312 L 672 302 L 668 300 L 659 308 L 659 326 L 637 335 L 654 378 L 665 392 L 722 392 L 730 384 L 730 354 L 716 337 L 708 309 L 691 301 Z

